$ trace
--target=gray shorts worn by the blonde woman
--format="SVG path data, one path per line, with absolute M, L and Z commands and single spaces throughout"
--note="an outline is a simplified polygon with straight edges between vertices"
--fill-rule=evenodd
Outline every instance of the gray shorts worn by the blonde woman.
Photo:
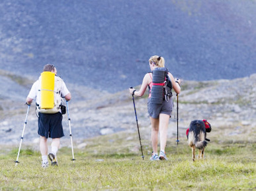
M 171 117 L 172 111 L 173 99 L 171 97 L 168 102 L 164 100 L 162 104 L 150 103 L 150 98 L 148 99 L 148 113 L 150 117 L 158 119 L 160 113 L 167 114 Z

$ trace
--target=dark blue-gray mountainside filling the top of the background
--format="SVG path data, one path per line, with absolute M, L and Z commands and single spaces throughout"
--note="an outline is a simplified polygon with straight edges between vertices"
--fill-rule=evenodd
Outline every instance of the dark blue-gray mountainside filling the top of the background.
M 73 84 L 118 92 L 161 55 L 179 78 L 241 78 L 256 72 L 255 10 L 255 0 L 2 0 L 0 68 L 37 77 L 54 63 Z

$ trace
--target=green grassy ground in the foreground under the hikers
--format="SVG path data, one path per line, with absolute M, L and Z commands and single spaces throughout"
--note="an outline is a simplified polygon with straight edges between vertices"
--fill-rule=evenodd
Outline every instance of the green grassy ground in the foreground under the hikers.
M 128 136 L 132 138 L 126 139 Z M 149 161 L 149 140 L 119 133 L 85 140 L 87 146 L 58 152 L 58 167 L 40 167 L 37 150 L 24 146 L 15 167 L 17 148 L 0 155 L 0 190 L 253 190 L 256 189 L 255 142 L 233 143 L 215 138 L 203 161 L 191 161 L 185 139 L 167 142 L 169 161 Z M 253 155 L 254 153 L 254 155 Z

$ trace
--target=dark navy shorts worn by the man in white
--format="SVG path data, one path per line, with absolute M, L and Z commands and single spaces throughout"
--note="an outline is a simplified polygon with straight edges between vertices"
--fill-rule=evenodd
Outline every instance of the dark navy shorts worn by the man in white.
M 46 114 L 39 112 L 38 134 L 46 138 L 61 138 L 64 136 L 62 113 Z

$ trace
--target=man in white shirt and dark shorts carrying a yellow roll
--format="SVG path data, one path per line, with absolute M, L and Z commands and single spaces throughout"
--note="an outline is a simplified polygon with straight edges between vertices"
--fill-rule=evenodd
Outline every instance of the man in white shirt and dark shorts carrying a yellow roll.
M 65 82 L 56 75 L 57 69 L 54 65 L 45 65 L 44 72 L 42 72 L 40 78 L 34 82 L 28 97 L 26 97 L 26 104 L 28 105 L 36 99 L 40 152 L 42 154 L 42 167 L 44 168 L 49 165 L 48 157 L 52 165 L 58 166 L 56 154 L 60 147 L 60 138 L 64 136 L 61 102 L 62 97 L 65 97 L 66 101 L 71 99 L 71 94 L 69 90 L 67 90 Z M 48 104 L 52 105 L 52 107 L 46 106 Z M 49 154 L 47 145 L 48 137 L 52 138 L 52 151 Z

